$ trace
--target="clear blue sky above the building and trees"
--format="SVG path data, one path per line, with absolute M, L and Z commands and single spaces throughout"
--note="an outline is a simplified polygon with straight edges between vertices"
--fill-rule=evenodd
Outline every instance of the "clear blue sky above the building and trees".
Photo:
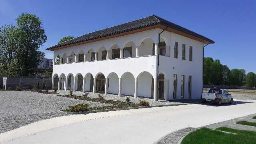
M 202 34 L 216 43 L 205 56 L 219 59 L 230 69 L 256 73 L 256 1 L 197 0 L 0 0 L 0 26 L 16 24 L 22 12 L 36 14 L 48 40 L 45 49 L 64 36 L 81 36 L 156 14 Z

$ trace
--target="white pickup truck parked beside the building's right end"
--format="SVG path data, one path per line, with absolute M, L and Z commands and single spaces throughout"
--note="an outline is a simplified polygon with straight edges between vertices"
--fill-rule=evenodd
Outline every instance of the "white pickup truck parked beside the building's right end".
M 212 88 L 209 90 L 209 92 L 202 93 L 202 102 L 204 104 L 206 102 L 215 102 L 220 106 L 224 102 L 232 104 L 233 97 L 231 96 L 231 94 L 228 94 L 226 90 Z

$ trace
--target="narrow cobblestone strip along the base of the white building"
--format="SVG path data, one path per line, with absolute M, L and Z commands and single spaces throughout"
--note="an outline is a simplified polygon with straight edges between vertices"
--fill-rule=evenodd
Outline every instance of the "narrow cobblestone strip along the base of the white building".
M 69 94 L 69 91 L 65 91 L 65 90 L 58 90 L 58 92 L 60 94 Z M 82 96 L 84 93 L 83 92 L 74 92 L 73 94 L 77 95 L 77 96 Z M 153 99 L 150 98 L 140 98 L 138 97 L 137 99 L 134 98 L 134 96 L 121 96 L 119 97 L 116 94 L 101 94 L 103 96 L 104 99 L 106 100 L 120 100 L 125 102 L 127 97 L 130 97 L 131 102 L 134 103 L 139 103 L 139 100 L 146 100 L 148 101 L 150 106 L 159 106 L 159 105 L 169 105 L 169 104 L 194 104 L 194 103 L 198 103 L 198 102 L 202 102 L 200 99 L 191 99 L 191 100 L 175 100 L 175 101 L 166 101 L 166 100 L 158 100 L 158 101 L 154 101 Z M 92 97 L 92 98 L 98 98 L 97 94 L 92 94 L 92 92 L 88 92 L 88 96 Z

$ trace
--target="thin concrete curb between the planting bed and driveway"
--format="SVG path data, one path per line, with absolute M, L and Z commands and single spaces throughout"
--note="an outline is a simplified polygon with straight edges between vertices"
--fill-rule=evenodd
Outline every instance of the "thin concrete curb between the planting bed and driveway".
M 163 106 L 181 106 L 181 105 L 188 105 L 188 104 L 200 104 L 200 102 L 193 102 L 187 104 L 166 104 L 166 105 L 154 105 L 154 106 L 137 106 L 137 107 L 128 107 L 128 108 L 113 108 L 113 109 L 106 109 L 106 110 L 91 110 L 87 112 L 64 112 L 66 114 L 90 114 L 96 112 L 110 112 L 110 111 L 117 111 L 117 110 L 132 110 L 132 109 L 139 109 L 139 108 L 154 108 L 154 107 L 163 107 Z M 59 110 L 60 112 L 63 112 Z

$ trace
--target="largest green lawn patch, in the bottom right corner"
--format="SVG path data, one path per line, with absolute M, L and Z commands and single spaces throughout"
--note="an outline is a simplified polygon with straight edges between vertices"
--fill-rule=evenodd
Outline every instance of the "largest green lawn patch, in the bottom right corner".
M 217 130 L 233 132 L 227 134 Z M 182 144 L 256 144 L 256 132 L 220 127 L 217 130 L 200 128 L 182 140 Z

